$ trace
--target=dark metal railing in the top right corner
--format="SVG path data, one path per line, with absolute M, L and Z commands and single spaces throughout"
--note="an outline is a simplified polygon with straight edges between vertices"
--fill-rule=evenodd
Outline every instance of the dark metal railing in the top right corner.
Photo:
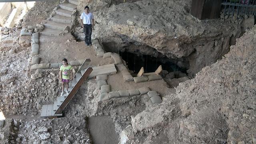
M 256 0 L 223 0 L 224 15 L 256 15 Z

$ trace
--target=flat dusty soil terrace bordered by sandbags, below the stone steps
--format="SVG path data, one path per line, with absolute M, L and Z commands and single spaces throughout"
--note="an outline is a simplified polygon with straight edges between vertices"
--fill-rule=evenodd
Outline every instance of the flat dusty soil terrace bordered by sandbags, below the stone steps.
M 84 60 L 90 58 L 90 66 L 112 64 L 112 58 L 97 57 L 93 46 L 86 46 L 84 42 L 76 42 L 70 33 L 64 36 L 40 36 L 40 63 L 58 63 L 62 58 Z

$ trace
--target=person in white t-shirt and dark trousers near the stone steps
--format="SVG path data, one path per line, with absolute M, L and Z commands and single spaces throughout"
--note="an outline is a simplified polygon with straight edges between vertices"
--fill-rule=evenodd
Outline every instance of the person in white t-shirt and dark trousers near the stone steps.
M 94 17 L 92 13 L 90 13 L 88 6 L 84 7 L 84 12 L 80 16 L 80 24 L 82 28 L 84 28 L 85 44 L 87 46 L 92 45 L 91 36 L 92 36 L 92 27 L 94 26 Z

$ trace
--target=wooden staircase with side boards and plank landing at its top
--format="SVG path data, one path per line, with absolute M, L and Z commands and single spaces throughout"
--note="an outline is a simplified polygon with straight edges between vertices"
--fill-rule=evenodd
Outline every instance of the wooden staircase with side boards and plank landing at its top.
M 42 106 L 41 117 L 57 118 L 62 116 L 62 111 L 68 105 L 70 100 L 74 97 L 80 86 L 87 78 L 93 78 L 100 74 L 116 74 L 116 67 L 114 64 L 104 66 L 97 66 L 93 68 L 86 68 L 90 63 L 90 59 L 86 59 L 79 70 L 74 75 L 73 80 L 69 83 L 69 94 L 58 96 L 54 104 L 46 104 Z

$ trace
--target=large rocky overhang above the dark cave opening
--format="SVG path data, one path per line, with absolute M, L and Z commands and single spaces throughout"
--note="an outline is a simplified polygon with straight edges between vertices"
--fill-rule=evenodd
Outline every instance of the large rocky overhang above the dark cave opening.
M 230 39 L 240 36 L 238 24 L 193 18 L 191 0 L 140 0 L 111 7 L 109 1 L 85 2 L 95 17 L 94 37 L 112 52 L 146 53 L 154 48 L 188 69 L 189 76 L 222 58 L 229 51 Z

